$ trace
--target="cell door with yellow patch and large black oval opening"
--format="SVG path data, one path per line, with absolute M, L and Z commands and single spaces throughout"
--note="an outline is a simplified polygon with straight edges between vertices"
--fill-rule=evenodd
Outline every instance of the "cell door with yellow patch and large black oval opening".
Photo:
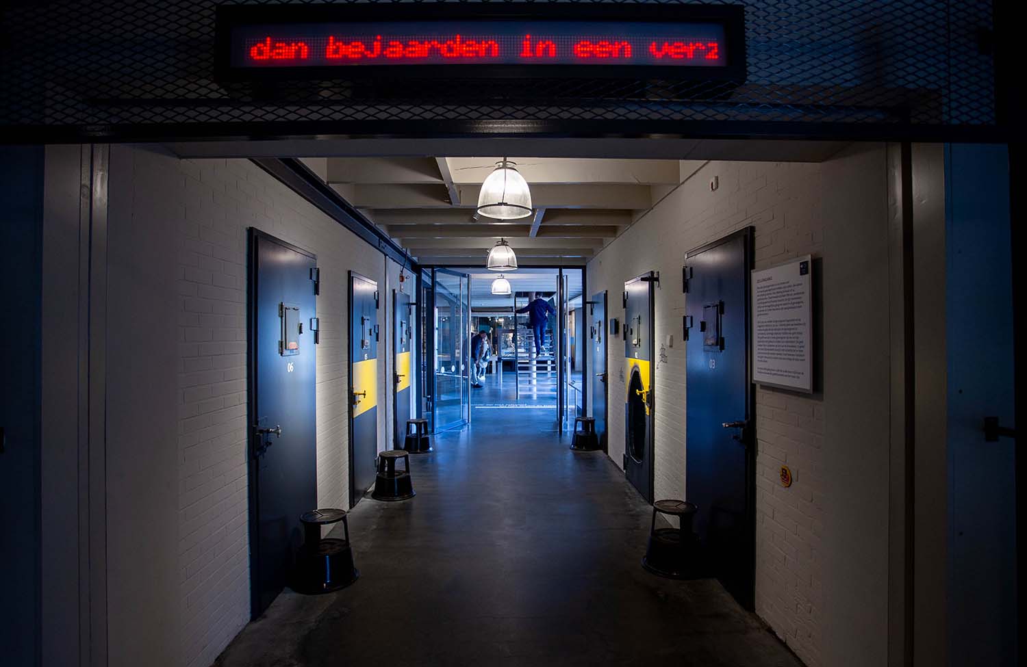
M 653 274 L 624 283 L 624 474 L 653 501 Z

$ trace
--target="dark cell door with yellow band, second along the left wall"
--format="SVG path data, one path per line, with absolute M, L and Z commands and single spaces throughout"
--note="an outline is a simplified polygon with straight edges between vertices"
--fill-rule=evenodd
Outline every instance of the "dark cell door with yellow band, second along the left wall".
M 378 283 L 349 272 L 349 506 L 375 483 L 378 458 Z

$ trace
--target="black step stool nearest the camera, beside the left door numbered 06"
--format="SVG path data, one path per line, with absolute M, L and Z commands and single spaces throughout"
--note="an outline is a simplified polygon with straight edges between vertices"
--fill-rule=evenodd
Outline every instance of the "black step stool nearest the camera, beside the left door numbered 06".
M 320 526 L 342 521 L 344 539 L 322 539 Z M 328 593 L 349 586 L 360 573 L 353 566 L 349 547 L 349 522 L 345 510 L 321 509 L 305 513 L 303 546 L 297 559 L 293 589 L 299 593 Z

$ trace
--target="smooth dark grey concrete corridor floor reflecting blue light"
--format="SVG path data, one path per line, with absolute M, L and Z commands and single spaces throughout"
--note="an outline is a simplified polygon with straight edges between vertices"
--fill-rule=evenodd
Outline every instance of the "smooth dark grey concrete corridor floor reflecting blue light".
M 535 413 L 474 415 L 412 457 L 416 498 L 350 513 L 360 579 L 287 590 L 215 664 L 801 665 L 716 581 L 644 571 L 649 506 Z

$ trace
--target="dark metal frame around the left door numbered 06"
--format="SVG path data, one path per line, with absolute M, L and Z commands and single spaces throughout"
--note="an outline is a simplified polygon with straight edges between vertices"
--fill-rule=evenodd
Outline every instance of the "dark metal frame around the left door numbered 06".
M 276 236 L 272 236 L 267 232 L 264 232 L 256 227 L 249 228 L 249 234 L 246 234 L 246 488 L 249 496 L 249 508 L 246 509 L 246 522 L 249 523 L 249 539 L 250 539 L 250 614 L 251 620 L 256 618 L 254 616 L 254 610 L 260 605 L 260 586 L 255 585 L 256 578 L 260 576 L 260 503 L 259 503 L 259 493 L 260 493 L 260 476 L 259 476 L 259 466 L 258 460 L 253 455 L 253 425 L 257 423 L 259 410 L 257 409 L 257 397 L 258 397 L 258 387 L 255 382 L 257 378 L 257 302 L 256 302 L 256 290 L 257 285 L 257 239 L 263 239 L 276 243 L 289 250 L 298 252 L 306 258 L 309 258 L 317 263 L 317 256 L 309 250 L 305 250 L 297 245 L 293 245 L 288 241 L 283 241 Z M 317 293 L 314 292 L 314 303 L 317 303 Z M 316 316 L 316 311 L 314 312 Z M 315 361 L 316 366 L 316 361 Z M 316 368 L 315 368 L 316 372 Z M 316 376 L 315 376 L 316 377 Z M 314 396 L 316 397 L 316 388 L 314 390 Z M 316 413 L 315 413 L 316 415 Z M 316 435 L 317 435 L 317 423 L 316 417 L 314 421 L 314 458 L 315 465 L 314 470 L 316 471 Z M 314 495 L 317 492 L 317 478 L 313 479 Z

